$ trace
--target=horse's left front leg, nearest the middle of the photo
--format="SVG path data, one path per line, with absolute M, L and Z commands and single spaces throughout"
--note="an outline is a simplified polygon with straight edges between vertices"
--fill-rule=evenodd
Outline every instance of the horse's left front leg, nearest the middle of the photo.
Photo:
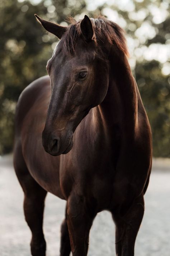
M 88 210 L 84 197 L 71 195 L 67 201 L 67 224 L 73 256 L 86 256 L 89 232 L 95 214 Z

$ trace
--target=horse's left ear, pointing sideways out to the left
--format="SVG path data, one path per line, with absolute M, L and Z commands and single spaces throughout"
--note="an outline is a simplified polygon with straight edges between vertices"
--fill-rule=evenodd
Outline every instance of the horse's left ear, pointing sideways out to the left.
M 67 27 L 62 27 L 56 23 L 45 21 L 44 19 L 40 18 L 37 14 L 34 14 L 37 20 L 42 24 L 42 26 L 53 35 L 57 36 L 61 39 L 63 33 L 66 31 Z

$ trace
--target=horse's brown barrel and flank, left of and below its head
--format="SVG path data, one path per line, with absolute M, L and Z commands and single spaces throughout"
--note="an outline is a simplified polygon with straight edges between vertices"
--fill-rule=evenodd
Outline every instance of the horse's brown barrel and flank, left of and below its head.
M 21 147 L 24 162 L 37 183 L 63 198 L 59 181 L 60 157 L 49 155 L 42 146 L 50 97 L 48 76 L 33 81 L 23 90 L 16 106 L 15 148 L 16 145 Z

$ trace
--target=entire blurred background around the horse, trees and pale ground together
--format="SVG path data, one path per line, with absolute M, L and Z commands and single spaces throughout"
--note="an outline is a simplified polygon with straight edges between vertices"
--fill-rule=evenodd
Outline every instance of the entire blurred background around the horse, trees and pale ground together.
M 136 255 L 170 252 L 170 2 L 169 0 L 0 0 L 0 248 L 1 255 L 28 256 L 30 231 L 24 221 L 23 193 L 12 167 L 14 113 L 22 90 L 46 75 L 46 63 L 58 42 L 36 21 L 67 25 L 104 15 L 126 31 L 129 63 L 146 108 L 153 135 L 154 164 L 146 193 L 146 212 Z M 161 157 L 161 159 L 160 159 Z M 58 255 L 65 202 L 49 195 L 44 229 L 48 256 Z M 99 214 L 90 233 L 89 255 L 114 254 L 114 225 Z

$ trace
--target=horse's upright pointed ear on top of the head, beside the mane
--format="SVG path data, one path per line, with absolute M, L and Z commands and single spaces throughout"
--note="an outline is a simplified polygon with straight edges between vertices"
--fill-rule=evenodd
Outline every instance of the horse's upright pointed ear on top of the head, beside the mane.
M 84 19 L 82 19 L 80 23 L 80 29 L 85 41 L 89 42 L 90 40 L 93 39 L 93 36 L 94 36 L 93 26 L 87 15 L 85 15 Z

